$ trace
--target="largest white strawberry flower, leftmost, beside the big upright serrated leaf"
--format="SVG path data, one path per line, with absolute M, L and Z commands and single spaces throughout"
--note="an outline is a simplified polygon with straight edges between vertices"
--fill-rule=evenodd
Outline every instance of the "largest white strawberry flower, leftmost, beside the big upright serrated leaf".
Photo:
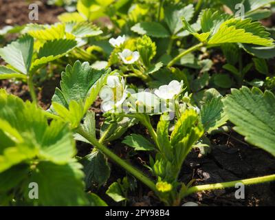
M 118 109 L 128 96 L 124 79 L 119 75 L 108 76 L 107 85 L 102 87 L 99 96 L 102 111 Z

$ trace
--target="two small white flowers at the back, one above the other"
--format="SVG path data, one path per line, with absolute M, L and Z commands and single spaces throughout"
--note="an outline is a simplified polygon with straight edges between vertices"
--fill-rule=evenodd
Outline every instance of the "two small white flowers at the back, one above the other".
M 123 35 L 123 36 L 118 36 L 118 38 L 116 38 L 116 39 L 113 39 L 113 38 L 110 39 L 109 43 L 113 47 L 120 47 L 121 45 L 123 45 L 125 40 L 126 40 L 125 35 Z M 118 53 L 118 55 L 120 56 L 123 63 L 125 63 L 125 64 L 133 64 L 136 61 L 138 61 L 138 59 L 140 58 L 139 52 L 137 52 L 137 51 L 132 52 L 129 49 L 124 49 L 121 53 Z

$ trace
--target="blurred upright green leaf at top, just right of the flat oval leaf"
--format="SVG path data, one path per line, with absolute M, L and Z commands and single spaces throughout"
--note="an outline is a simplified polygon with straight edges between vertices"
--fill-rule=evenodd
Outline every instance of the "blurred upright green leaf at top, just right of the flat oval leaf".
M 190 21 L 194 15 L 195 9 L 192 4 L 182 7 L 181 4 L 164 6 L 164 21 L 170 28 L 172 34 L 177 34 L 183 28 L 181 17 Z

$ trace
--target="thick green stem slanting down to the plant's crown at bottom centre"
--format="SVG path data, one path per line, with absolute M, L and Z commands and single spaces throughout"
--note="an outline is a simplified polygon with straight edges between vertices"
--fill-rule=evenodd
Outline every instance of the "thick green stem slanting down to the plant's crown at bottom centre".
M 149 179 L 148 177 L 146 177 L 146 175 L 144 175 L 140 170 L 137 170 L 137 168 L 134 168 L 133 166 L 131 166 L 131 164 L 125 162 L 123 159 L 121 159 L 120 157 L 118 157 L 118 155 L 115 155 L 115 153 L 113 153 L 111 150 L 109 150 L 109 148 L 107 148 L 103 144 L 100 144 L 100 142 L 98 142 L 96 139 L 94 139 L 93 137 L 91 137 L 89 135 L 89 133 L 87 133 L 86 131 L 84 131 L 81 127 L 78 128 L 77 132 L 80 135 L 82 135 L 83 137 L 85 137 L 89 142 L 91 142 L 91 144 L 93 144 L 99 151 L 101 151 L 102 153 L 104 153 L 104 155 L 106 155 L 107 157 L 109 157 L 110 159 L 112 159 L 113 162 L 115 162 L 116 164 L 120 165 L 126 171 L 128 171 L 129 173 L 131 173 L 131 175 L 133 175 L 134 177 L 136 177 L 137 179 L 139 179 L 140 181 L 142 181 L 142 183 L 144 183 L 146 186 L 148 186 L 149 188 L 151 188 L 151 190 L 157 192 L 157 189 L 155 188 L 155 183 L 151 179 Z

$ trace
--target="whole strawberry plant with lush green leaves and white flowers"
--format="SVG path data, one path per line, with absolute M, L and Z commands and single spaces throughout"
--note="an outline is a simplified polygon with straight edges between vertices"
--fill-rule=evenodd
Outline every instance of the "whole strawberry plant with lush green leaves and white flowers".
M 26 98 L 0 84 L 1 206 L 126 206 L 140 184 L 180 206 L 192 193 L 275 181 L 198 184 L 184 170 L 190 154 L 208 157 L 237 133 L 274 159 L 274 28 L 260 22 L 274 1 L 50 3 L 76 11 L 0 30 L 0 80 L 28 86 Z

